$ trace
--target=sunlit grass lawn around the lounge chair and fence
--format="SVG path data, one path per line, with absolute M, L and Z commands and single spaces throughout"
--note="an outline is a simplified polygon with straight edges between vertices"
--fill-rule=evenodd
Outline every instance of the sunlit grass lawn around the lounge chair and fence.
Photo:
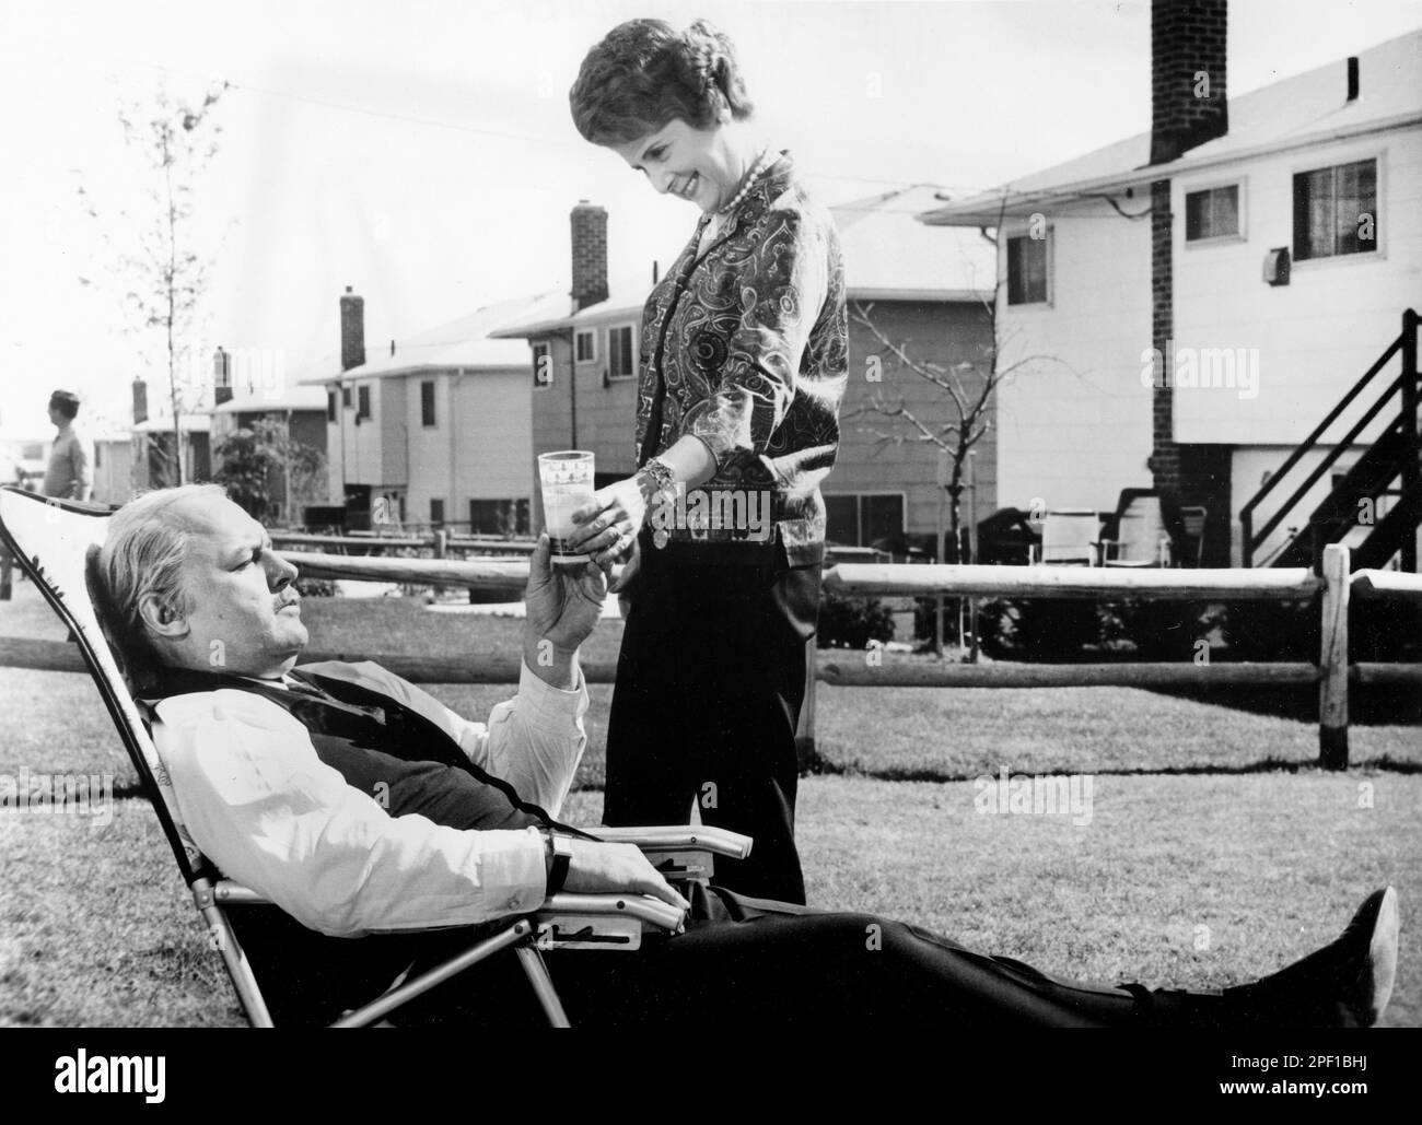
M 63 639 L 27 584 L 16 594 L 0 634 Z M 306 616 L 314 648 L 353 653 L 506 653 L 520 628 L 394 599 L 310 599 Z M 603 622 L 592 652 L 610 659 L 619 638 Z M 509 693 L 429 690 L 471 716 Z M 0 669 L 0 774 L 132 783 L 85 676 Z M 592 696 L 583 790 L 566 811 L 589 824 L 610 688 Z M 1219 987 L 1330 940 L 1392 882 L 1404 947 L 1385 1021 L 1422 1023 L 1416 727 L 1354 727 L 1355 768 L 1322 774 L 1310 723 L 1133 689 L 822 686 L 818 737 L 843 773 L 802 781 L 816 905 L 916 920 L 1045 972 Z M 1003 766 L 1094 774 L 1091 822 L 977 812 L 971 778 Z M 107 827 L 0 812 L 0 1023 L 240 1023 L 142 800 L 119 800 Z

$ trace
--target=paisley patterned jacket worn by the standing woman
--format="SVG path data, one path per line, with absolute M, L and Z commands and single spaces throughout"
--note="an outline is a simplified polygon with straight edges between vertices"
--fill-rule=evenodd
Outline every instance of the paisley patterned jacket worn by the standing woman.
M 687 493 L 687 510 L 715 511 L 722 497 L 757 494 L 747 503 L 768 500 L 791 565 L 816 562 L 825 548 L 819 484 L 839 449 L 849 365 L 839 234 L 784 149 L 702 253 L 710 219 L 701 216 L 643 308 L 637 464 L 683 435 L 700 438 L 717 470 Z M 664 523 L 671 540 L 752 541 L 734 526 L 741 520 Z

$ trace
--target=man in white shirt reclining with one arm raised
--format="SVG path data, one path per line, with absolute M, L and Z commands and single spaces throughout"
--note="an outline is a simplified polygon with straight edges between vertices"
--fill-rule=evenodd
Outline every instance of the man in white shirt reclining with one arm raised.
M 592 565 L 553 570 L 546 538 L 532 555 L 518 697 L 486 726 L 377 665 L 297 666 L 297 570 L 216 486 L 129 503 L 97 571 L 111 642 L 151 702 L 189 832 L 229 878 L 303 923 L 266 936 L 300 966 L 292 987 L 347 989 L 327 997 L 344 1006 L 384 987 L 400 959 L 447 956 L 451 940 L 468 942 L 462 928 L 538 909 L 559 879 L 688 913 L 683 932 L 636 953 L 550 956 L 574 1024 L 1347 1026 L 1374 1023 L 1391 993 L 1391 888 L 1324 949 L 1210 993 L 1054 979 L 900 922 L 717 888 L 697 886 L 688 903 L 634 847 L 553 821 L 586 741 L 577 648 L 606 581 Z M 512 959 L 506 967 L 491 962 L 394 1018 L 538 1020 Z

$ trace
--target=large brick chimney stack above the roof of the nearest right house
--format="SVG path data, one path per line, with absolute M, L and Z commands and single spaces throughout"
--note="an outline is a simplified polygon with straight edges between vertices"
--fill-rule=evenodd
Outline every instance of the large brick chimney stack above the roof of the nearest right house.
M 1229 131 L 1226 0 L 1152 0 L 1150 163 Z

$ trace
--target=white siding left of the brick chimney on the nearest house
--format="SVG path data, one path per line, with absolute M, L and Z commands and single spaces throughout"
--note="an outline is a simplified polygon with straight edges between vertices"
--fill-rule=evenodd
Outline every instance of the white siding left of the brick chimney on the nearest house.
M 1128 200 L 1132 212 L 1149 200 Z M 1113 509 L 1125 487 L 1149 487 L 1150 223 L 1102 202 L 1045 216 L 1049 305 L 1010 305 L 998 287 L 1003 366 L 1020 368 L 998 391 L 1000 506 Z M 998 276 L 1007 276 L 1007 227 Z

